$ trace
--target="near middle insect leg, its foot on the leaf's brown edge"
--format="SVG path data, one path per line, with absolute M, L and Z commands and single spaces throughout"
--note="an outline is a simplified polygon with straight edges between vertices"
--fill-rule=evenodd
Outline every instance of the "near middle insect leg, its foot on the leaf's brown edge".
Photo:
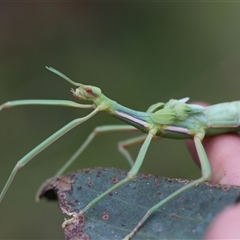
M 73 218 L 68 219 L 66 221 L 63 222 L 62 227 L 64 228 L 66 225 L 70 224 L 72 221 L 74 221 L 74 219 L 79 216 L 84 214 L 89 208 L 91 208 L 93 205 L 95 205 L 97 202 L 99 202 L 102 198 L 104 198 L 106 195 L 108 195 L 110 192 L 112 192 L 113 190 L 115 190 L 116 188 L 122 186 L 123 184 L 131 181 L 132 179 L 135 178 L 136 174 L 138 173 L 143 160 L 145 158 L 145 155 L 147 153 L 148 147 L 151 143 L 152 138 L 156 135 L 157 130 L 152 129 L 147 137 L 144 140 L 144 143 L 142 144 L 140 151 L 138 153 L 137 159 L 135 161 L 135 163 L 133 164 L 131 170 L 128 172 L 127 177 L 122 179 L 121 181 L 119 181 L 118 183 L 116 183 L 114 186 L 112 186 L 111 188 L 109 188 L 107 191 L 105 191 L 104 193 L 100 194 L 98 197 L 96 197 L 95 199 L 93 199 L 83 210 L 81 210 L 78 214 L 76 214 Z

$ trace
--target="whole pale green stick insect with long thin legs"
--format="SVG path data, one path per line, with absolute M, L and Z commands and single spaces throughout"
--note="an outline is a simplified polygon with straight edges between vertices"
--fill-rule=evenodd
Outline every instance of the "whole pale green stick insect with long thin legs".
M 46 147 L 48 147 L 62 135 L 77 125 L 87 121 L 100 111 L 104 111 L 110 115 L 113 115 L 128 123 L 129 125 L 106 125 L 95 128 L 94 131 L 82 144 L 82 146 L 80 146 L 80 148 L 56 173 L 55 176 L 61 175 L 99 133 L 135 130 L 140 130 L 145 133 L 144 136 L 126 140 L 119 145 L 120 152 L 125 156 L 131 165 L 131 169 L 128 172 L 127 177 L 116 183 L 113 187 L 104 193 L 100 194 L 97 198 L 93 199 L 77 215 L 73 216 L 73 218 L 66 220 L 63 223 L 63 227 L 71 223 L 74 218 L 78 217 L 81 214 L 84 214 L 89 208 L 91 208 L 94 204 L 96 204 L 110 192 L 122 186 L 124 183 L 127 183 L 134 179 L 143 163 L 146 152 L 152 140 L 159 137 L 173 139 L 193 139 L 197 154 L 200 159 L 202 177 L 173 192 L 167 198 L 161 200 L 159 203 L 150 208 L 136 225 L 136 227 L 132 230 L 132 232 L 125 236 L 124 239 L 126 240 L 132 238 L 134 234 L 139 230 L 139 228 L 144 224 L 144 222 L 148 219 L 148 217 L 159 207 L 163 206 L 169 200 L 176 197 L 185 190 L 210 179 L 211 168 L 208 157 L 202 145 L 203 138 L 208 135 L 240 130 L 239 124 L 236 124 L 239 122 L 239 115 L 236 114 L 240 108 L 240 102 L 238 101 L 202 107 L 194 104 L 187 104 L 186 102 L 189 100 L 189 98 L 183 98 L 180 100 L 171 99 L 167 103 L 159 102 L 150 106 L 146 112 L 134 111 L 109 99 L 104 94 L 102 94 L 101 89 L 98 87 L 76 83 L 52 67 L 47 67 L 47 69 L 77 87 L 75 90 L 71 90 L 77 99 L 81 101 L 89 101 L 92 102 L 92 104 L 79 104 L 66 100 L 17 100 L 6 102 L 0 105 L 0 110 L 22 105 L 55 105 L 76 108 L 89 108 L 93 109 L 93 111 L 83 118 L 78 118 L 71 121 L 60 130 L 55 132 L 53 135 L 51 135 L 49 138 L 44 140 L 42 143 L 40 143 L 38 146 L 36 146 L 34 149 L 32 149 L 22 159 L 20 159 L 12 170 L 0 194 L 0 202 L 2 201 L 9 186 L 11 185 L 11 182 L 13 181 L 17 171 L 21 167 L 23 167 L 33 157 L 43 151 Z M 222 114 L 223 109 L 225 111 L 225 114 Z M 142 143 L 142 146 L 136 160 L 133 161 L 132 157 L 127 151 L 127 148 L 139 143 Z

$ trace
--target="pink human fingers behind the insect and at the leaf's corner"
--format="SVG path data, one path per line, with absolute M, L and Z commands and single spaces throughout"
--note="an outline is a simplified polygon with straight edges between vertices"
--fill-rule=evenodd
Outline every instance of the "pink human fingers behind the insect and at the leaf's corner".
M 196 104 L 196 103 L 195 103 Z M 205 105 L 204 103 L 197 103 Z M 199 166 L 193 141 L 186 141 L 188 149 Z M 203 145 L 210 161 L 211 183 L 240 186 L 240 136 L 226 133 L 205 137 Z M 224 209 L 210 224 L 204 239 L 240 239 L 240 203 Z

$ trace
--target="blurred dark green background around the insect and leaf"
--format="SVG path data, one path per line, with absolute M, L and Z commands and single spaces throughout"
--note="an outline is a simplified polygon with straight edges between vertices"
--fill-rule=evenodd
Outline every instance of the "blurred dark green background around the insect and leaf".
M 170 98 L 217 103 L 239 99 L 239 3 L 0 3 L 0 103 L 15 99 L 70 99 L 76 82 L 99 86 L 137 110 Z M 54 131 L 87 110 L 25 106 L 0 113 L 0 186 L 16 162 Z M 103 113 L 77 127 L 17 174 L 0 206 L 0 239 L 63 239 L 63 215 L 54 203 L 34 202 L 51 177 L 102 124 L 121 124 Z M 93 166 L 129 169 L 117 141 L 99 136 L 70 170 Z M 135 155 L 138 147 L 131 149 Z M 197 178 L 183 141 L 154 142 L 141 169 Z

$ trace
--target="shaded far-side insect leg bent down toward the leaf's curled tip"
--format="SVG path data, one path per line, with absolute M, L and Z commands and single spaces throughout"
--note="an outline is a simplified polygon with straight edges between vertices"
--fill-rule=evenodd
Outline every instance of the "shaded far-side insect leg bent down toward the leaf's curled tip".
M 66 169 L 77 159 L 77 157 L 87 148 L 87 146 L 93 141 L 93 139 L 101 133 L 108 132 L 120 132 L 120 131 L 139 131 L 135 127 L 129 125 L 104 125 L 96 127 L 92 133 L 87 137 L 83 144 L 77 149 L 72 157 L 57 171 L 55 176 L 62 175 Z

